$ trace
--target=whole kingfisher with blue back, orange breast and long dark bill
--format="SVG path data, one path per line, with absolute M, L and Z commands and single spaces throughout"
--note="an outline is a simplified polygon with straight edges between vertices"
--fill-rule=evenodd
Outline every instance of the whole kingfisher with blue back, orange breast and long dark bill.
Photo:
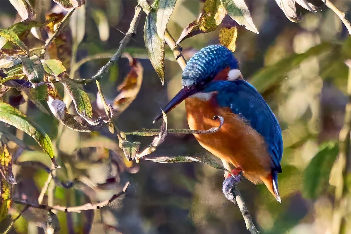
M 170 112 L 185 100 L 188 125 L 206 130 L 218 125 L 218 132 L 194 134 L 207 151 L 221 159 L 225 178 L 242 173 L 253 183 L 263 182 L 278 202 L 278 173 L 283 154 L 282 130 L 262 95 L 243 79 L 239 62 L 223 45 L 209 45 L 186 63 L 182 88 L 165 106 Z M 154 122 L 162 117 L 159 114 Z

